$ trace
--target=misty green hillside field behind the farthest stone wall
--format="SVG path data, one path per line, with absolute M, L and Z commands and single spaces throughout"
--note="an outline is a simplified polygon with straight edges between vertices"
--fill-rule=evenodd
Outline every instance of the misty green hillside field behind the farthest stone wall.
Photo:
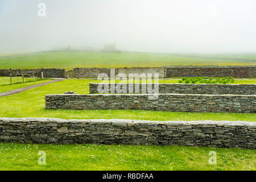
M 0 69 L 162 67 L 163 65 L 255 65 L 255 61 L 205 59 L 167 53 L 79 51 L 43 52 L 0 58 Z

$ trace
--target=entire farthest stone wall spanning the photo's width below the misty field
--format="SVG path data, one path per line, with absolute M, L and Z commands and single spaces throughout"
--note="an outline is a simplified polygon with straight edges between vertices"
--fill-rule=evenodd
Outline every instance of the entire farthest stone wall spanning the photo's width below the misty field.
M 110 77 L 111 68 L 74 68 L 72 72 L 73 77 L 77 78 L 97 78 L 100 73 L 105 73 Z M 129 76 L 129 73 L 138 74 L 138 77 L 142 73 L 146 76 L 151 73 L 158 73 L 160 78 L 171 77 L 235 77 L 246 78 L 256 77 L 256 66 L 167 66 L 167 67 L 133 67 L 133 68 L 113 68 L 115 76 L 118 73 L 125 73 Z M 15 74 L 27 74 L 28 72 L 35 72 L 37 76 L 40 76 L 40 72 L 44 72 L 44 77 L 65 77 L 65 69 L 56 68 L 42 68 L 42 69 L 0 69 L 0 76 L 9 76 L 10 73 Z M 70 74 L 68 73 L 67 77 Z

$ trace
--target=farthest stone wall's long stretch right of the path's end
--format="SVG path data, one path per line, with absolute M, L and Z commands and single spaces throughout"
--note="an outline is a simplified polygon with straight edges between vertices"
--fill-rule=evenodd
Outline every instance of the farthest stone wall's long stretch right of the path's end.
M 133 67 L 133 68 L 113 68 L 115 76 L 118 73 L 129 73 L 141 75 L 142 73 L 158 73 L 159 77 L 256 77 L 256 66 L 168 66 L 168 67 Z M 98 74 L 106 73 L 110 77 L 110 68 L 75 68 L 75 77 L 97 78 Z

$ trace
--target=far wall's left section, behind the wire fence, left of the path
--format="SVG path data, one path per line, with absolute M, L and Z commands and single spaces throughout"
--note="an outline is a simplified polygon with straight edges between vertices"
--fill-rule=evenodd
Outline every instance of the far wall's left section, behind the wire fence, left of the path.
M 11 74 L 15 76 L 18 75 L 28 75 L 28 73 L 35 73 L 35 76 L 41 77 L 41 72 L 44 73 L 44 77 L 50 78 L 64 78 L 65 69 L 58 68 L 41 68 L 41 69 L 0 69 L 0 76 L 10 76 Z

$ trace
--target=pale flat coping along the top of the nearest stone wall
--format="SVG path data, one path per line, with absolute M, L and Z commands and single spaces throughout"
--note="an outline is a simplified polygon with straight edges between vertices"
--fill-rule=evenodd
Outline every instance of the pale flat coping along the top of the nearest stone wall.
M 141 123 L 156 125 L 229 125 L 256 127 L 256 122 L 250 121 L 149 121 L 135 119 L 60 119 L 60 118 L 0 118 L 0 122 L 89 122 L 89 123 Z

